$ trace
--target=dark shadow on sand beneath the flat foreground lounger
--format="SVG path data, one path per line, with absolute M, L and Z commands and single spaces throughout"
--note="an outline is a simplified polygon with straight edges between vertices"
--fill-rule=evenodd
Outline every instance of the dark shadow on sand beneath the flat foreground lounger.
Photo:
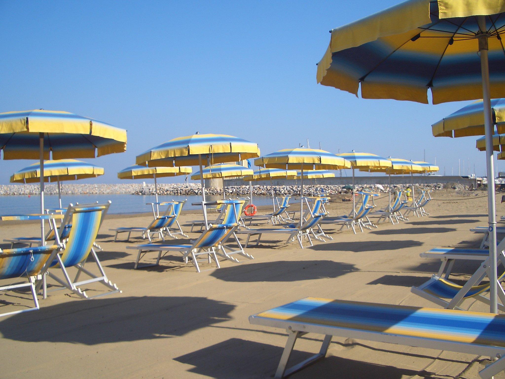
M 332 344 L 333 345 L 333 344 Z M 189 372 L 215 377 L 218 379 L 253 379 L 272 377 L 282 354 L 282 347 L 246 341 L 238 338 L 181 355 L 174 358 L 177 362 L 192 365 Z M 291 378 L 374 378 L 400 379 L 420 375 L 426 377 L 432 374 L 427 371 L 417 371 L 398 368 L 385 364 L 363 362 L 359 360 L 340 358 L 329 354 L 325 359 L 308 366 L 303 371 L 294 373 Z M 219 352 L 219 354 L 216 354 Z M 313 353 L 294 350 L 290 362 L 300 362 Z

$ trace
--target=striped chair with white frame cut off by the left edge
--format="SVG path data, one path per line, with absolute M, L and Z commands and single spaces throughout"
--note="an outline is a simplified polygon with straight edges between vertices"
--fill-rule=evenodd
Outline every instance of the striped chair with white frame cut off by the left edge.
M 60 247 L 58 245 L 37 246 L 18 249 L 0 249 L 0 279 L 26 277 L 28 282 L 0 287 L 0 291 L 10 291 L 22 287 L 30 287 L 33 297 L 33 308 L 0 313 L 0 316 L 39 309 L 35 279 L 45 268 L 47 261 L 54 256 Z

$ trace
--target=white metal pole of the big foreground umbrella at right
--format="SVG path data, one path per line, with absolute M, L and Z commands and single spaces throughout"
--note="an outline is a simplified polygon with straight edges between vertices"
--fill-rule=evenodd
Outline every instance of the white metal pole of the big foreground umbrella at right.
M 479 28 L 486 31 L 484 16 L 477 16 Z M 489 93 L 489 62 L 488 62 L 488 36 L 483 33 L 479 36 L 480 68 L 482 74 L 482 101 L 484 105 L 484 129 L 486 138 L 486 169 L 487 169 L 487 207 L 489 223 L 489 312 L 498 313 L 497 277 L 496 277 L 496 209 L 494 194 L 494 161 L 493 161 L 493 123 L 491 120 L 491 98 Z

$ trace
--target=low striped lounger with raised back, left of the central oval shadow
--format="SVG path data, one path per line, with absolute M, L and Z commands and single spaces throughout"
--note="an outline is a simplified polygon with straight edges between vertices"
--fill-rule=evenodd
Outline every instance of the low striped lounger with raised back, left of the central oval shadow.
M 198 239 L 192 244 L 184 245 L 170 245 L 170 244 L 143 244 L 137 246 L 127 246 L 127 249 L 138 250 L 137 259 L 135 261 L 134 268 L 156 266 L 160 264 L 160 259 L 162 256 L 170 251 L 176 251 L 182 254 L 182 258 L 187 263 L 188 259 L 191 259 L 193 266 L 196 268 L 196 272 L 200 272 L 200 267 L 198 266 L 198 258 L 201 255 L 207 256 L 206 261 L 211 262 L 211 258 L 216 262 L 217 268 L 220 268 L 219 261 L 216 256 L 217 251 L 221 248 L 221 244 L 225 242 L 238 225 L 209 225 L 209 229 L 203 231 Z M 139 266 L 140 259 L 149 252 L 158 252 L 158 258 L 156 263 L 144 264 Z M 165 254 L 163 254 L 165 252 Z

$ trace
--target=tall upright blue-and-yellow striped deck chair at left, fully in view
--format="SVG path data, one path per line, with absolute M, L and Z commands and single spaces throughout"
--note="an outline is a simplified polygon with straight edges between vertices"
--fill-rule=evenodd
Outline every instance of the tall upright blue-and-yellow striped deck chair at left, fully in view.
M 55 289 L 63 290 L 64 288 L 69 289 L 74 294 L 78 295 L 84 299 L 92 299 L 99 296 L 110 295 L 113 293 L 121 293 L 118 287 L 112 283 L 100 263 L 96 252 L 93 249 L 93 243 L 98 234 L 98 229 L 102 223 L 103 211 L 108 204 L 92 204 L 89 206 L 73 206 L 69 209 L 69 212 L 65 217 L 72 218 L 72 228 L 70 230 L 70 235 L 65 248 L 56 255 L 56 259 L 51 262 L 49 269 L 46 270 L 46 275 L 57 281 L 62 287 Z M 84 268 L 86 261 L 91 255 L 92 260 L 96 263 L 99 275 L 93 274 L 87 268 Z M 74 279 L 70 278 L 68 269 L 70 267 L 75 267 L 77 269 L 77 274 Z M 57 276 L 54 272 L 61 270 L 63 278 Z M 84 273 L 90 278 L 86 280 L 77 281 L 79 276 Z M 39 283 L 37 289 L 43 286 L 44 298 L 46 297 L 46 281 L 45 275 L 42 277 L 43 282 Z M 82 285 L 87 285 L 89 283 L 102 283 L 110 291 L 89 297 L 85 291 L 82 291 L 79 287 Z

